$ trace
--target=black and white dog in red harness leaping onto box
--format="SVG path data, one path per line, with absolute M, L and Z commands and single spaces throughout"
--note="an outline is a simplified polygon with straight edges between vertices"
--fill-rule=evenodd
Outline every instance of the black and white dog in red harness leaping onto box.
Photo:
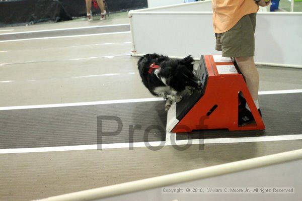
M 193 73 L 193 58 L 172 59 L 158 54 L 146 54 L 138 62 L 142 83 L 156 96 L 167 99 L 165 110 L 183 96 L 191 95 L 201 81 Z

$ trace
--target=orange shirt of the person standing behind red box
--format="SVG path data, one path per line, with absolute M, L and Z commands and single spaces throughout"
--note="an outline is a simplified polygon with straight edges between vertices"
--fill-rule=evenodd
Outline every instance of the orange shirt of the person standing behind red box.
M 212 8 L 214 32 L 217 34 L 230 30 L 243 16 L 259 10 L 254 0 L 212 0 Z

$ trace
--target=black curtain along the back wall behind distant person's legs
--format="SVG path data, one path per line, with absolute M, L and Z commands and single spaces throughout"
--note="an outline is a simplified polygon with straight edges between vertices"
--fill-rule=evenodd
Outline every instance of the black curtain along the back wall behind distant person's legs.
M 106 0 L 111 13 L 147 7 L 147 0 Z M 93 14 L 100 10 L 92 6 Z M 60 22 L 86 16 L 85 0 L 0 1 L 0 27 Z

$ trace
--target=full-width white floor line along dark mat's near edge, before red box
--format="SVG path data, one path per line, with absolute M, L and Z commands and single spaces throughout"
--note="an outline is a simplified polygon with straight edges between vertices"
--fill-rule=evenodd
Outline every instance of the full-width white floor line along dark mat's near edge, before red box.
M 263 137 L 244 137 L 244 138 L 214 138 L 214 139 L 194 139 L 179 140 L 176 142 L 135 142 L 133 148 L 150 147 L 150 146 L 171 146 L 171 145 L 186 145 L 186 144 L 219 144 L 219 143 L 244 143 L 244 142 L 271 142 L 271 141 L 285 141 L 285 140 L 302 140 L 302 134 L 300 135 L 281 135 L 281 136 L 263 136 Z M 96 149 L 117 149 L 128 148 L 129 143 L 115 143 L 115 144 L 103 144 L 102 147 L 94 145 L 79 145 L 79 146 L 61 146 L 61 147 L 36 147 L 36 148 L 16 148 L 16 149 L 0 149 L 0 154 L 11 153 L 34 153 L 34 152 L 53 152 L 53 151 L 78 151 L 78 150 L 96 150 Z

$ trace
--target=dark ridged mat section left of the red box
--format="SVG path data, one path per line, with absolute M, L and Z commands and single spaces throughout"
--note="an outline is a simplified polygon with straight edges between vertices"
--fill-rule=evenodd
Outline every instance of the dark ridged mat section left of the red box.
M 101 136 L 103 144 L 143 142 L 144 138 L 163 141 L 167 123 L 164 110 L 165 102 L 155 101 L 0 111 L 0 149 L 90 145 L 97 144 Z M 123 124 L 119 134 L 114 133 L 118 130 L 114 119 Z M 130 139 L 129 127 L 136 128 Z M 144 134 L 147 127 L 149 133 Z

